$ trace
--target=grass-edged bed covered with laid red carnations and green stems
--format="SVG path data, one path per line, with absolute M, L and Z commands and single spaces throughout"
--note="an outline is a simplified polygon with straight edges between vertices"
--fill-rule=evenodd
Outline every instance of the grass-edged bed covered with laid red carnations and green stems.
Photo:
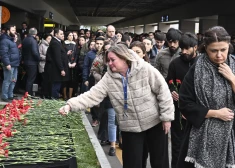
M 75 159 L 81 168 L 95 168 L 97 157 L 81 113 L 61 116 L 58 109 L 63 105 L 64 101 L 39 99 L 26 92 L 0 110 L 0 167 L 54 167 Z

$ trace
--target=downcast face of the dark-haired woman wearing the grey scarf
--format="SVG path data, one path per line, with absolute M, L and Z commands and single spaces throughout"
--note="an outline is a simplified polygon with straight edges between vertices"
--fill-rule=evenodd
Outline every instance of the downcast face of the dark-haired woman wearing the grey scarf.
M 222 64 L 227 60 L 229 43 L 225 41 L 214 42 L 206 46 L 206 52 L 211 62 Z

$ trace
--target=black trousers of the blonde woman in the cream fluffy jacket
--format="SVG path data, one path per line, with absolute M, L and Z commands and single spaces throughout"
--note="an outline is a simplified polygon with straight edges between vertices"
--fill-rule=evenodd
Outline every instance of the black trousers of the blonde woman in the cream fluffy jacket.
M 162 123 L 139 133 L 122 131 L 123 168 L 143 168 L 143 153 L 147 145 L 152 168 L 169 168 L 168 136 Z

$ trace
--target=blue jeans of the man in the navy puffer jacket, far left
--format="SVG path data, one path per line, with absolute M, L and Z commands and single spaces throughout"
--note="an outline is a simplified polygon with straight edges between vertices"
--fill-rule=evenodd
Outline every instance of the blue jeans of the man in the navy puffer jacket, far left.
M 4 80 L 2 82 L 2 99 L 13 97 L 13 90 L 17 81 L 17 73 L 18 67 L 11 67 L 11 70 L 3 67 Z

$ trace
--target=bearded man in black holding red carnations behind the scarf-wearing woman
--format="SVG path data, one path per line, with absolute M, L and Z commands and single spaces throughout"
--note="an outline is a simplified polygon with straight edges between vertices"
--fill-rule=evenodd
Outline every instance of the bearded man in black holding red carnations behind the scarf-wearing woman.
M 186 120 L 179 111 L 179 89 L 184 76 L 197 60 L 197 37 L 186 32 L 179 40 L 180 57 L 171 61 L 166 81 L 175 105 L 175 120 L 171 122 L 172 168 L 176 168 L 181 142 L 184 137 Z

